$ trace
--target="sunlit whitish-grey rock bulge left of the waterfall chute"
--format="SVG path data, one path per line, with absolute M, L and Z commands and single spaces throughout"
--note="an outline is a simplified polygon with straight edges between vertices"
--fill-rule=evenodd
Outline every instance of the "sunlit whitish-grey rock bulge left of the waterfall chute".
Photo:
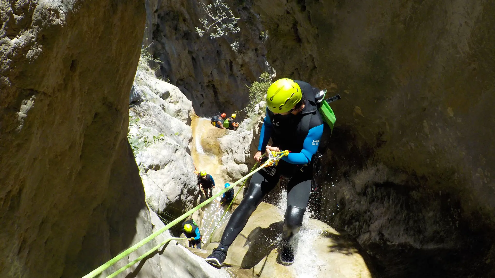
M 189 143 L 193 139 L 191 101 L 181 91 L 156 79 L 144 61 L 130 93 L 129 141 L 151 209 L 174 218 L 193 208 L 198 197 L 195 166 Z

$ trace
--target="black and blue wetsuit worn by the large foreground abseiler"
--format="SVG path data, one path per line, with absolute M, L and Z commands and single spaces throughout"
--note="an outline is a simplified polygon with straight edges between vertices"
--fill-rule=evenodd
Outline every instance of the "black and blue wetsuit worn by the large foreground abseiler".
M 289 150 L 290 153 L 283 157 L 277 166 L 263 168 L 252 176 L 247 193 L 232 213 L 223 232 L 219 247 L 223 247 L 224 250 L 228 249 L 244 229 L 252 212 L 278 184 L 281 176 L 289 179 L 284 238 L 291 238 L 302 226 L 302 216 L 311 192 L 311 160 L 318 150 L 323 133 L 323 120 L 314 98 L 319 90 L 306 82 L 295 81 L 303 93 L 304 108 L 297 115 L 275 115 L 267 109 L 258 144 L 258 150 L 264 152 L 271 138 L 273 146 L 279 147 L 280 150 Z

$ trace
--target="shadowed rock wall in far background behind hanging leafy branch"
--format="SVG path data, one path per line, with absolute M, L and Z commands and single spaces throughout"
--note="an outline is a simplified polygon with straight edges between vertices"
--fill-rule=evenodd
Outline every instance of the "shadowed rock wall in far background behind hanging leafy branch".
M 241 17 L 242 32 L 211 39 L 199 37 L 196 27 L 205 12 L 197 0 L 147 0 L 144 45 L 159 58 L 160 75 L 193 101 L 198 116 L 243 109 L 248 102 L 246 85 L 268 70 L 264 30 L 248 3 L 229 3 Z M 239 42 L 239 53 L 230 44 Z

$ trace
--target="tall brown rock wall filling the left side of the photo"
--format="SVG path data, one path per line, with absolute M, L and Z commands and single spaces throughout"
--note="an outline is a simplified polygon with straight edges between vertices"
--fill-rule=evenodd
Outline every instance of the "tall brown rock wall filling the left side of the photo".
M 126 138 L 145 6 L 2 1 L 1 18 L 0 277 L 81 277 L 151 231 Z

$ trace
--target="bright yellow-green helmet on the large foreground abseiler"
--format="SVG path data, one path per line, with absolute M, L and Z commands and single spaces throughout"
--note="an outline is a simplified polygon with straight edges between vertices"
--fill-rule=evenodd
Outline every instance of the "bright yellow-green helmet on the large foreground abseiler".
M 289 112 L 302 98 L 301 88 L 292 79 L 282 78 L 266 92 L 266 106 L 273 113 Z

